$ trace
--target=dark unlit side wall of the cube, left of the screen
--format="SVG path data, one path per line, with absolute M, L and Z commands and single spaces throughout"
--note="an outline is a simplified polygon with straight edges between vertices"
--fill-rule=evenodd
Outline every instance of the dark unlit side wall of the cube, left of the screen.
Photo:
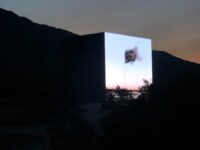
M 105 100 L 104 33 L 66 39 L 66 97 L 72 105 Z

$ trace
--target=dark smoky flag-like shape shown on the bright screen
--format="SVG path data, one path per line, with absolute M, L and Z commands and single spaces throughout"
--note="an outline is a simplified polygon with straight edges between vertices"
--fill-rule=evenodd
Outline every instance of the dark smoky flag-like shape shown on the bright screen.
M 132 63 L 137 59 L 137 50 L 138 48 L 135 47 L 133 49 L 127 49 L 125 51 L 125 63 Z

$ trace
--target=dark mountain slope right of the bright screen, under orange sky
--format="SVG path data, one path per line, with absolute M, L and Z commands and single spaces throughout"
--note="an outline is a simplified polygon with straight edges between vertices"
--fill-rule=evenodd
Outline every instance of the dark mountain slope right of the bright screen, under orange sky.
M 153 50 L 153 80 L 162 84 L 187 74 L 200 76 L 200 64 L 189 62 L 169 53 Z

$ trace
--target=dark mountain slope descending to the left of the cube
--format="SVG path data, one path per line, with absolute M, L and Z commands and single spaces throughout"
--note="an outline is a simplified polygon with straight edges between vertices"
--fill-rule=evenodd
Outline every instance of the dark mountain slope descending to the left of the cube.
M 42 118 L 60 107 L 63 39 L 77 35 L 1 8 L 0 22 L 0 119 Z

